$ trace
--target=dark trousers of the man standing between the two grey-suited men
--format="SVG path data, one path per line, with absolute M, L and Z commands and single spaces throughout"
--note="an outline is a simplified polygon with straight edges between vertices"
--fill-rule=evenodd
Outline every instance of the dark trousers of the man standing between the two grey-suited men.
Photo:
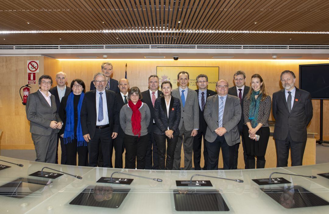
M 207 170 L 208 162 L 208 151 L 207 151 L 207 140 L 205 139 L 206 132 L 198 130 L 198 133 L 193 138 L 193 163 L 195 170 L 201 170 L 200 160 L 201 160 L 201 144 L 203 137 L 203 159 L 204 166 L 203 170 Z

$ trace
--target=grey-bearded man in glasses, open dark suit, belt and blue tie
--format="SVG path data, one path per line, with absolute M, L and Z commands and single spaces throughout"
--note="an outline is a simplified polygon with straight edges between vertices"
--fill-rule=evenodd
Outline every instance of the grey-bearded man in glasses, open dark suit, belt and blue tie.
M 111 166 L 110 148 L 119 131 L 119 111 L 113 91 L 105 90 L 106 79 L 103 73 L 94 76 L 96 89 L 88 91 L 81 107 L 81 128 L 87 141 L 89 166 L 97 164 L 99 145 L 102 148 L 104 165 Z M 100 141 L 100 144 L 99 144 Z

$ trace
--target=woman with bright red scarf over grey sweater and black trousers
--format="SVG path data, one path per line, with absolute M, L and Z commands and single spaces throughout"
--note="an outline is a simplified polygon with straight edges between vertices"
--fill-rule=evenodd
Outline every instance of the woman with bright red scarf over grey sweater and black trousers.
M 150 109 L 141 102 L 138 87 L 132 87 L 127 96 L 128 104 L 120 111 L 120 125 L 125 132 L 126 169 L 145 169 L 145 155 L 148 144 L 147 125 L 150 123 Z

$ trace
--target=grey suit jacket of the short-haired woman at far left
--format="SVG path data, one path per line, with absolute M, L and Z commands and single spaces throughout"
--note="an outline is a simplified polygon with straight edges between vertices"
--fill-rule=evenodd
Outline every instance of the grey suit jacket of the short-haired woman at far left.
M 50 122 L 53 120 L 62 122 L 57 113 L 55 96 L 51 95 L 50 100 L 51 107 L 39 90 L 27 97 L 26 117 L 30 121 L 31 133 L 49 136 L 53 131 L 53 129 L 49 127 Z M 56 129 L 54 131 L 58 133 L 60 130 Z

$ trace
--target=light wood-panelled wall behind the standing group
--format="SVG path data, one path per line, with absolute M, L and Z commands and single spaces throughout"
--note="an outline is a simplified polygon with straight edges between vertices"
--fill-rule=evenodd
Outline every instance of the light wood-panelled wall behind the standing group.
M 89 90 L 90 81 L 96 72 L 100 71 L 100 60 L 83 61 L 59 61 L 47 57 L 0 57 L 1 79 L 0 79 L 0 130 L 3 131 L 0 144 L 1 149 L 34 149 L 29 132 L 29 122 L 26 119 L 25 106 L 21 104 L 19 88 L 27 83 L 27 60 L 39 60 L 40 75 L 48 74 L 55 78 L 58 71 L 67 74 L 68 84 L 75 78 L 82 79 Z M 105 61 L 105 60 L 104 60 Z M 113 78 L 119 80 L 124 78 L 125 64 L 127 63 L 127 76 L 130 86 L 139 86 L 141 90 L 147 89 L 147 78 L 150 74 L 156 73 L 157 66 L 218 66 L 219 78 L 229 81 L 233 86 L 233 74 L 237 70 L 245 71 L 247 85 L 250 83 L 250 76 L 254 73 L 262 75 L 266 84 L 268 94 L 281 89 L 279 81 L 280 73 L 283 70 L 294 71 L 298 86 L 299 64 L 328 63 L 326 61 L 293 61 L 293 60 L 178 60 L 178 61 L 137 61 L 137 60 L 113 60 Z M 202 72 L 200 72 L 202 73 Z M 55 82 L 55 80 L 54 80 Z M 56 82 L 53 86 L 56 85 Z M 35 92 L 38 85 L 32 86 L 31 92 Z M 214 90 L 213 88 L 210 88 Z M 311 130 L 319 132 L 319 106 L 318 100 L 312 101 L 314 116 L 309 125 Z M 324 101 L 324 136 L 329 139 L 329 101 Z M 272 116 L 270 119 L 273 119 Z

